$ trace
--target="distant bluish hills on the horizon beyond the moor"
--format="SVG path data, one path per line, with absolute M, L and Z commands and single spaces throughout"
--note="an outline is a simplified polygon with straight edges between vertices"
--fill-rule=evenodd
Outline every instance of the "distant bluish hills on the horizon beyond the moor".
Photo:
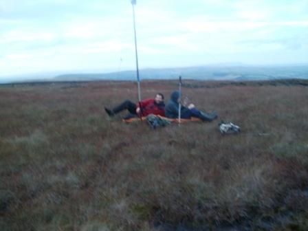
M 308 65 L 298 66 L 203 66 L 141 69 L 142 79 L 173 79 L 179 75 L 196 80 L 273 80 L 308 78 Z M 53 80 L 135 80 L 135 71 L 106 74 L 65 74 Z

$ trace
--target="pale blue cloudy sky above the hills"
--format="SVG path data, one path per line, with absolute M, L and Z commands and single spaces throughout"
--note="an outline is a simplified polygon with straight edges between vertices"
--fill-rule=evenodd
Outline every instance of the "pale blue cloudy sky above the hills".
M 0 80 L 135 69 L 130 0 L 0 0 Z M 308 0 L 137 0 L 140 69 L 308 63 Z

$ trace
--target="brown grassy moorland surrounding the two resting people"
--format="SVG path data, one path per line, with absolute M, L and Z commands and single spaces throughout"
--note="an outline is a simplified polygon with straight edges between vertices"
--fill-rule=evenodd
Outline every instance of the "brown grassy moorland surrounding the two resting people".
M 133 82 L 2 85 L 0 230 L 308 230 L 307 85 L 185 81 L 239 135 L 109 118 Z

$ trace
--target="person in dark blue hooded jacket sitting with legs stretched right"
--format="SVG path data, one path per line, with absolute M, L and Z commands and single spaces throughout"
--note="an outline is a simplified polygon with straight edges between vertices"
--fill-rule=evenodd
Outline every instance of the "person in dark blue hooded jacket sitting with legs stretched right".
M 179 91 L 173 91 L 170 100 L 165 107 L 166 117 L 179 118 Z M 181 118 L 190 119 L 197 117 L 203 121 L 212 121 L 217 118 L 217 113 L 205 113 L 195 108 L 195 105 L 190 104 L 188 107 L 181 105 Z

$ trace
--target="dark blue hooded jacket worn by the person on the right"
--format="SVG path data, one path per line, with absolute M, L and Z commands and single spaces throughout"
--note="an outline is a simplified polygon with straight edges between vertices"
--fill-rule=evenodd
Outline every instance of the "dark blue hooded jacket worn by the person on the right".
M 166 104 L 165 114 L 168 118 L 179 118 L 179 91 L 173 91 L 170 96 L 170 100 Z M 190 119 L 191 112 L 187 107 L 181 106 L 181 118 Z

